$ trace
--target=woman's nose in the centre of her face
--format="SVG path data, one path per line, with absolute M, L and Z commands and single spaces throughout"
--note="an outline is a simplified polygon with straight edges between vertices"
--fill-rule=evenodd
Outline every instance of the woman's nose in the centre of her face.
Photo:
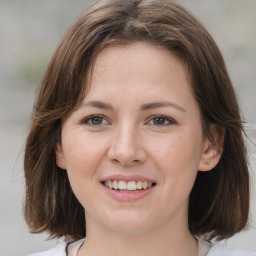
M 136 128 L 123 125 L 116 129 L 108 150 L 108 158 L 114 163 L 127 167 L 145 162 L 146 150 Z

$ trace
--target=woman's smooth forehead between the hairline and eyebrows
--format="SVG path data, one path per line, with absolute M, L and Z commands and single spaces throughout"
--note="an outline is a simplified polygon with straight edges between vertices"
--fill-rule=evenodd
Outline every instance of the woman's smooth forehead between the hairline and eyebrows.
M 84 101 L 141 104 L 194 102 L 187 65 L 168 49 L 149 43 L 109 46 L 95 59 Z M 135 103 L 135 102 L 134 102 Z

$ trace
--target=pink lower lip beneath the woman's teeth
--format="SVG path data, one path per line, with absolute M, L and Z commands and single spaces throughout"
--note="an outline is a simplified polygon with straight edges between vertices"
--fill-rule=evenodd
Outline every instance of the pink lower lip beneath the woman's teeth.
M 143 189 L 137 192 L 119 192 L 118 190 L 114 190 L 111 188 L 106 187 L 105 185 L 101 184 L 103 189 L 110 195 L 112 198 L 119 200 L 119 201 L 134 201 L 141 199 L 152 192 L 155 186 L 152 186 L 148 189 Z

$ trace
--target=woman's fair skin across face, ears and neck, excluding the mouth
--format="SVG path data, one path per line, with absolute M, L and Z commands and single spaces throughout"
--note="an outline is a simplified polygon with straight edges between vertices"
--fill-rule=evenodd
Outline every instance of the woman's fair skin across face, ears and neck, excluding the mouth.
M 104 49 L 83 104 L 63 121 L 56 156 L 85 208 L 80 256 L 197 255 L 189 193 L 198 170 L 212 169 L 220 154 L 203 136 L 186 65 L 174 54 L 147 43 Z M 156 186 L 139 200 L 119 201 L 101 184 L 115 174 Z

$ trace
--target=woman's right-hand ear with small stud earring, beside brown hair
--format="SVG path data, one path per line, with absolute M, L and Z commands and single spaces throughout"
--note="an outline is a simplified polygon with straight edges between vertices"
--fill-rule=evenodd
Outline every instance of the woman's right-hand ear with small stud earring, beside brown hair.
M 210 138 L 204 141 L 203 152 L 199 162 L 199 171 L 210 171 L 218 163 L 223 152 L 225 128 L 216 124 L 210 125 Z

